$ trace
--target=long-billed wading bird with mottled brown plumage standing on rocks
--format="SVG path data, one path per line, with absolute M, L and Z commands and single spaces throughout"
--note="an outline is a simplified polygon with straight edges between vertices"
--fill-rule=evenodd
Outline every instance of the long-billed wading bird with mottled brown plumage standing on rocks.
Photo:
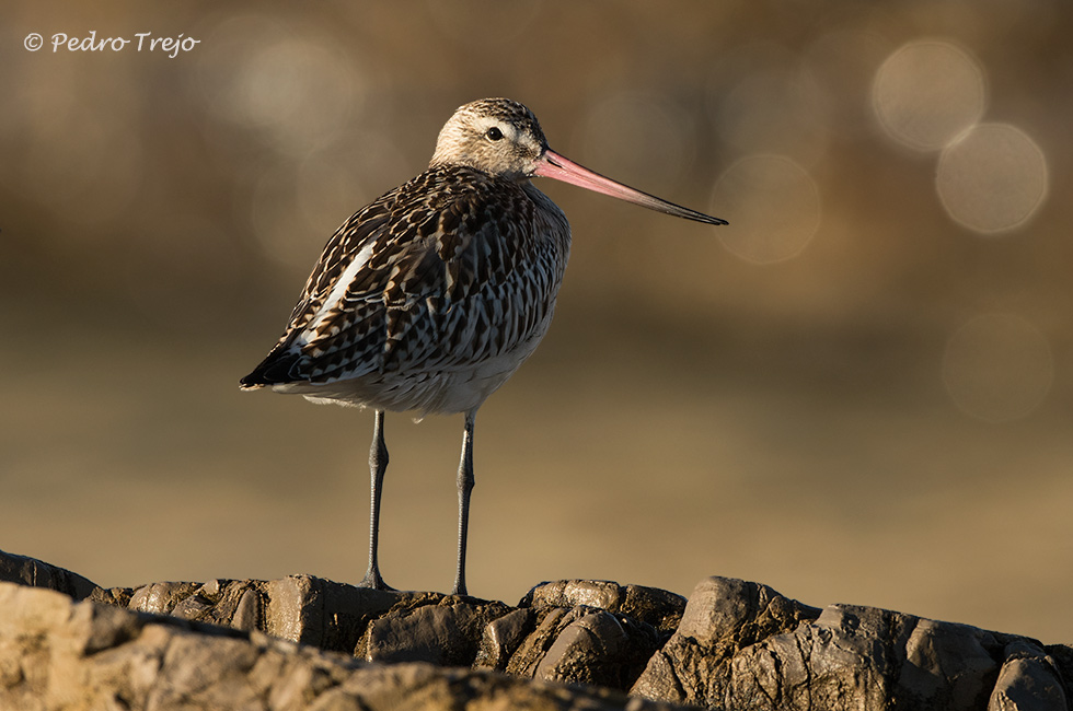
M 570 252 L 546 177 L 670 215 L 726 220 L 616 183 L 551 150 L 533 113 L 508 98 L 460 106 L 428 170 L 355 212 L 332 235 L 282 336 L 245 377 L 268 387 L 374 410 L 369 451 L 369 564 L 380 573 L 384 412 L 463 415 L 453 595 L 468 595 L 465 555 L 477 409 L 518 370 L 552 320 Z

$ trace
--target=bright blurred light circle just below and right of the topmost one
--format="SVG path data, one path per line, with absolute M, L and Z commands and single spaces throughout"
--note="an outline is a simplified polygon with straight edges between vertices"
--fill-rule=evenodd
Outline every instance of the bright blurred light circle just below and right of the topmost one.
M 1047 159 L 1008 124 L 973 126 L 944 149 L 935 188 L 947 213 L 981 233 L 1024 224 L 1049 189 Z

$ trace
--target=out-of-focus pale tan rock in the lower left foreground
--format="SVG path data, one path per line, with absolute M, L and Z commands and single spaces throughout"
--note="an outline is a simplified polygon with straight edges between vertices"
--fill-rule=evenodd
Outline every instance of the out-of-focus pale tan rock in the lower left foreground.
M 0 583 L 5 711 L 671 709 L 429 664 L 367 664 L 312 646 Z

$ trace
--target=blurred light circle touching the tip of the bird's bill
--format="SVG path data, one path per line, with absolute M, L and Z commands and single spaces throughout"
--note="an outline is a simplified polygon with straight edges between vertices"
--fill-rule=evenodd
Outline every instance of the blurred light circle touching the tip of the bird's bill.
M 711 208 L 730 222 L 718 231 L 723 245 L 754 264 L 797 256 L 820 226 L 816 180 L 783 155 L 750 155 L 728 167 Z

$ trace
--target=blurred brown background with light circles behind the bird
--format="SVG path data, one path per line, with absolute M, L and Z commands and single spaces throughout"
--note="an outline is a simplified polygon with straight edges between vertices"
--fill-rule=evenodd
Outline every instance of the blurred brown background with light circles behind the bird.
M 8 2 L 0 548 L 360 580 L 371 412 L 238 378 L 335 228 L 504 95 L 730 225 L 539 184 L 574 250 L 477 418 L 471 592 L 719 574 L 1073 641 L 1073 11 L 684 8 Z M 395 586 L 450 588 L 461 430 L 388 418 Z

